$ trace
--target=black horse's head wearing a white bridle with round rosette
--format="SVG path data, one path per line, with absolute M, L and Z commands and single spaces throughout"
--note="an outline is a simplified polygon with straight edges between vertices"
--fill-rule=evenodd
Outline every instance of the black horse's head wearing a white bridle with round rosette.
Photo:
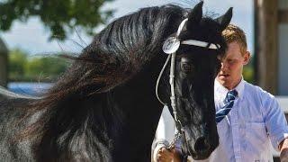
M 167 85 L 171 88 L 163 95 L 166 103 L 169 103 L 177 129 L 183 133 L 183 149 L 194 159 L 209 157 L 219 144 L 214 78 L 220 69 L 219 58 L 226 49 L 221 31 L 229 24 L 231 16 L 230 8 L 215 20 L 202 17 L 201 2 L 194 6 L 187 19 L 179 25 L 178 31 L 164 43 L 166 53 L 175 51 L 175 62 L 171 64 L 170 71 L 166 68 L 166 78 L 170 76 L 166 82 L 170 80 L 170 85 Z M 170 55 L 173 57 L 173 54 Z M 174 61 L 173 58 L 171 61 Z M 172 66 L 175 66 L 174 74 L 171 74 Z M 171 85 L 171 82 L 174 84 Z

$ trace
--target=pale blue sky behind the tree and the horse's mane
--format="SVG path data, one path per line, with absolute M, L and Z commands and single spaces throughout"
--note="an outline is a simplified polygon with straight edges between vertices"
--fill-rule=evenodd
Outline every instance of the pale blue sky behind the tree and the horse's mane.
M 197 4 L 198 0 L 114 0 L 112 3 L 103 5 L 103 9 L 112 8 L 116 12 L 113 18 L 120 17 L 124 14 L 130 14 L 138 11 L 141 7 L 161 5 L 167 3 L 181 4 L 184 7 L 191 7 Z M 254 24 L 253 24 L 253 1 L 252 0 L 204 0 L 204 13 L 224 14 L 227 9 L 233 7 L 232 23 L 240 26 L 247 33 L 248 49 L 254 51 Z M 103 26 L 98 27 L 101 30 Z M 80 33 L 86 44 L 91 41 L 90 37 Z M 4 40 L 9 49 L 20 48 L 28 51 L 32 55 L 58 52 L 61 50 L 79 52 L 81 47 L 76 42 L 85 46 L 85 43 L 76 36 L 71 34 L 66 42 L 58 42 L 56 40 L 48 41 L 49 30 L 40 23 L 37 17 L 31 18 L 28 23 L 14 22 L 10 31 L 0 32 L 0 37 Z

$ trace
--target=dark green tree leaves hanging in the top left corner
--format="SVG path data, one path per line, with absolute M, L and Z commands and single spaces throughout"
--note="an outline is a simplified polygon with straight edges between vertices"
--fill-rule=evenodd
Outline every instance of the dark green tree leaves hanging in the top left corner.
M 15 20 L 26 22 L 29 17 L 38 16 L 51 31 L 51 39 L 64 40 L 67 32 L 77 26 L 93 34 L 94 27 L 112 15 L 112 10 L 101 11 L 101 6 L 108 1 L 112 0 L 0 1 L 0 30 L 9 30 Z

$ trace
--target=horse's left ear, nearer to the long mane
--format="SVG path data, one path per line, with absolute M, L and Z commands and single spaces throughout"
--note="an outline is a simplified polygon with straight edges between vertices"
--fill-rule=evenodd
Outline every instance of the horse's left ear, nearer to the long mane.
M 192 29 L 193 24 L 199 23 L 202 19 L 202 5 L 203 1 L 199 4 L 196 4 L 191 13 L 188 14 L 187 29 Z

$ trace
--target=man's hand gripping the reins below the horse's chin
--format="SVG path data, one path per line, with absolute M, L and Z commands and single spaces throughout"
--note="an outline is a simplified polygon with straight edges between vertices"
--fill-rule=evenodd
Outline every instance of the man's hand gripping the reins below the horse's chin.
M 158 162 L 181 162 L 181 157 L 175 148 L 160 148 L 157 153 Z

